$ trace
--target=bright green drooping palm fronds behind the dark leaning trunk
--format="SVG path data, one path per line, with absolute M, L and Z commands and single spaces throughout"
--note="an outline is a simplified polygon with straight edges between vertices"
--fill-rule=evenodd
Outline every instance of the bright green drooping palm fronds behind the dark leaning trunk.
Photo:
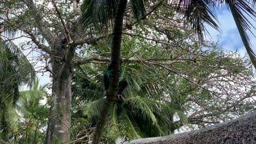
M 160 103 L 159 99 L 165 96 L 164 91 L 174 94 L 169 84 L 149 79 L 158 75 L 160 69 L 140 67 L 138 73 L 132 73 L 131 70 L 126 70 L 124 74 L 129 85 L 123 93 L 123 103 L 115 103 L 110 107 L 111 115 L 107 118 L 108 130 L 104 137 L 115 141 L 122 137 L 133 140 L 164 136 L 177 129 L 173 122 L 174 113 L 178 114 L 182 123 L 187 121 L 183 113 L 174 109 L 173 105 Z M 80 110 L 83 115 L 95 124 L 105 100 L 102 74 L 90 65 L 83 65 L 76 71 L 73 82 L 73 102 L 82 104 Z M 77 114 L 80 115 L 80 111 Z

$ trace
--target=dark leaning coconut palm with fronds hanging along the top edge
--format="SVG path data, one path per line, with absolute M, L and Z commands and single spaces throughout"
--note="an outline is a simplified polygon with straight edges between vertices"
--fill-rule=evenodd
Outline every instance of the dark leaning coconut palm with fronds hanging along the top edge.
M 98 143 L 102 135 L 102 129 L 106 123 L 106 119 L 111 105 L 114 103 L 117 95 L 118 82 L 119 82 L 119 62 L 120 62 L 120 48 L 121 48 L 121 35 L 123 32 L 123 19 L 127 0 L 88 0 L 84 1 L 82 10 L 82 22 L 86 27 L 91 27 L 92 31 L 109 31 L 112 30 L 112 62 L 114 62 L 112 69 L 112 77 L 110 79 L 110 87 L 108 97 L 104 103 L 104 109 L 101 112 L 101 116 L 98 119 L 94 141 Z M 146 7 L 150 5 L 149 0 L 130 0 L 130 8 L 132 14 L 136 19 L 144 19 L 146 16 Z M 243 43 L 246 46 L 246 50 L 252 59 L 254 67 L 256 67 L 255 55 L 252 47 L 249 45 L 249 38 L 246 34 L 246 29 L 249 29 L 251 23 L 246 17 L 255 17 L 255 11 L 253 9 L 255 0 L 240 1 L 240 0 L 162 0 L 159 4 L 166 2 L 171 8 L 177 11 L 177 13 L 184 15 L 188 22 L 189 28 L 197 35 L 199 39 L 203 38 L 203 32 L 207 32 L 204 23 L 218 29 L 218 21 L 213 14 L 213 9 L 216 5 L 224 5 L 228 7 L 234 17 L 237 28 L 239 29 Z M 252 2 L 252 3 L 250 3 Z

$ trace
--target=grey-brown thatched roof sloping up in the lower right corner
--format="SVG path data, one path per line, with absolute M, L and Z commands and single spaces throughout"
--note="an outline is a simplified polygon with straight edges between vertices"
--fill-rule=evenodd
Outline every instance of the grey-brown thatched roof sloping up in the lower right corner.
M 187 133 L 133 140 L 124 144 L 255 144 L 256 112 Z

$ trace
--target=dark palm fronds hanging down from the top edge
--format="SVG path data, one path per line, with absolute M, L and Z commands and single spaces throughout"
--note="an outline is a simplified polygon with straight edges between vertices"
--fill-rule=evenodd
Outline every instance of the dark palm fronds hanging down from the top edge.
M 150 7 L 155 3 L 161 4 L 164 1 L 131 0 L 129 2 L 132 14 L 136 19 L 142 19 L 146 15 L 146 7 Z M 113 25 L 117 3 L 117 0 L 85 1 L 82 5 L 83 25 L 90 27 L 92 31 L 108 31 Z M 156 7 L 156 5 L 154 6 Z M 167 11 L 169 12 L 169 16 L 175 12 L 183 15 L 185 23 L 187 23 L 191 32 L 197 35 L 198 39 L 202 40 L 203 35 L 208 33 L 205 23 L 219 30 L 217 17 L 214 15 L 219 5 L 224 5 L 231 11 L 243 43 L 255 67 L 255 55 L 246 33 L 247 29 L 252 33 L 251 27 L 253 27 L 248 17 L 255 18 L 254 4 L 251 1 L 173 0 L 167 2 L 167 6 L 169 7 Z M 154 27 L 154 24 L 149 23 L 149 26 Z

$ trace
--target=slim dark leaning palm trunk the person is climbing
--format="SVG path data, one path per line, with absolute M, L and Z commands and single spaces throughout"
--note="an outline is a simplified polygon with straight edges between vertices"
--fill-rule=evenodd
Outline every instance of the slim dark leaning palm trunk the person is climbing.
M 109 115 L 110 107 L 113 106 L 115 99 L 117 98 L 118 83 L 119 83 L 119 69 L 120 69 L 120 51 L 121 51 L 121 37 L 123 29 L 123 19 L 127 0 L 119 0 L 117 5 L 117 11 L 115 12 L 114 27 L 113 27 L 113 40 L 112 40 L 112 57 L 111 60 L 114 63 L 110 77 L 110 87 L 106 101 L 104 103 L 103 111 L 98 119 L 96 130 L 94 133 L 93 144 L 100 143 L 102 132 Z

